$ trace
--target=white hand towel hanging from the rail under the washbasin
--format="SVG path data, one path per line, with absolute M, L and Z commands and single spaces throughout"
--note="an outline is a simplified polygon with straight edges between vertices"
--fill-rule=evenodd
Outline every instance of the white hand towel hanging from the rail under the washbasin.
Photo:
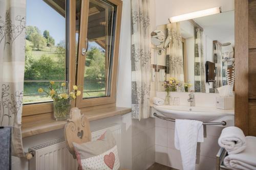
M 198 120 L 176 119 L 174 144 L 180 150 L 183 170 L 196 168 L 197 142 L 203 142 L 203 123 Z

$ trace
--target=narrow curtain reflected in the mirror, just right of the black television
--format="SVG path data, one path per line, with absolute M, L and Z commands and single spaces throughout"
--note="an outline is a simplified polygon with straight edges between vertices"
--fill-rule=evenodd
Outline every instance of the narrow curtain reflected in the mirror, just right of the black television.
M 216 69 L 216 77 L 215 77 L 215 88 L 219 88 L 223 86 L 222 82 L 222 54 L 221 54 L 221 44 L 219 42 L 214 43 L 214 61 L 215 61 L 215 69 Z

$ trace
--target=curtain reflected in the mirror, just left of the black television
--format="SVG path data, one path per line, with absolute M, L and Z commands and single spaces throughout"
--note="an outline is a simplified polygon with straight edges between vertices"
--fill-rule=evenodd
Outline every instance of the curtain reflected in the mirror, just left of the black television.
M 195 29 L 195 92 L 205 92 L 205 61 L 203 55 L 203 32 Z

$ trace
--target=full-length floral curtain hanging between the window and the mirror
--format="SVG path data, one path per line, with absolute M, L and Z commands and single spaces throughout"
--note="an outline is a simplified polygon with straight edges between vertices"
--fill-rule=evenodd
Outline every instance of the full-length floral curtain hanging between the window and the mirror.
M 150 115 L 150 0 L 132 0 L 132 118 Z

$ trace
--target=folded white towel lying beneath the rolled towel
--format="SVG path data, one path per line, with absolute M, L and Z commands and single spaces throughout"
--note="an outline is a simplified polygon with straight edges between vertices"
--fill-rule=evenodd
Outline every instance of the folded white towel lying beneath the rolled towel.
M 231 169 L 256 170 L 256 137 L 246 136 L 246 149 L 225 157 L 225 166 Z

